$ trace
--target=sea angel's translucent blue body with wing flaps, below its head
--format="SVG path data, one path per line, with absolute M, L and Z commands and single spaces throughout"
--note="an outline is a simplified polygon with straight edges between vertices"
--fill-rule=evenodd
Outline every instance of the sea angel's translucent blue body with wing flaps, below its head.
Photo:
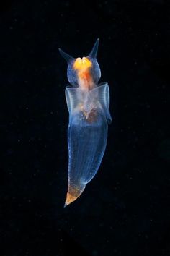
M 99 169 L 107 144 L 109 87 L 66 88 L 68 124 L 68 193 L 79 197 Z

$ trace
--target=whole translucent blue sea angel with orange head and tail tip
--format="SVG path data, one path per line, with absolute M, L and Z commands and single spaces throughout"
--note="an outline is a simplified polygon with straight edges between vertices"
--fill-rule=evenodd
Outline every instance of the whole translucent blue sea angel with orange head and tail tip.
M 63 52 L 68 64 L 66 87 L 68 124 L 68 192 L 65 206 L 75 201 L 86 184 L 97 173 L 107 145 L 109 114 L 109 86 L 98 85 L 101 77 L 97 62 L 97 39 L 90 54 L 74 59 Z

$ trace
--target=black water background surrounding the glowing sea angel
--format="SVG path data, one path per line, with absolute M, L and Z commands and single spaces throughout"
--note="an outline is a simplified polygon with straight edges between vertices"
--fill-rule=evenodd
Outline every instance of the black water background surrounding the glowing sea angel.
M 170 3 L 6 1 L 0 17 L 0 255 L 167 256 Z M 99 38 L 113 122 L 81 197 L 67 190 L 66 63 Z

